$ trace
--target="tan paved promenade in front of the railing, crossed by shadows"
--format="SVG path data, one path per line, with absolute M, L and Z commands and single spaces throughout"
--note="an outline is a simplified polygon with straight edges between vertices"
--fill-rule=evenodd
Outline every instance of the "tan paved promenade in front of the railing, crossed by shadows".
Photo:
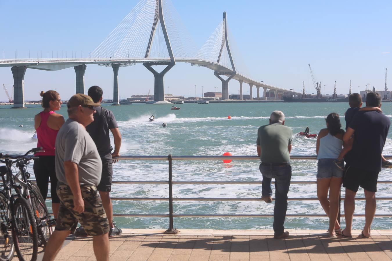
M 325 230 L 288 230 L 285 240 L 272 230 L 123 229 L 110 239 L 110 260 L 392 260 L 392 230 L 372 230 L 372 238 L 330 239 Z M 56 260 L 96 260 L 91 237 L 70 237 Z M 42 254 L 40 254 L 40 257 Z M 40 259 L 39 259 L 40 260 Z

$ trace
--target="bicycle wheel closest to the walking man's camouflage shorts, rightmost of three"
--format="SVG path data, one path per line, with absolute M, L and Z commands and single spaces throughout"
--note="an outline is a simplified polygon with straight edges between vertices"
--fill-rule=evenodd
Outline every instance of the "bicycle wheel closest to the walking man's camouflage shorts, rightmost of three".
M 42 194 L 36 184 L 30 184 L 32 187 L 32 191 L 30 192 L 31 203 L 33 204 L 34 217 L 37 223 L 38 245 L 46 246 L 49 237 L 53 233 L 54 227 L 48 225 L 48 221 L 51 219 L 51 216 L 47 210 L 44 197 L 42 197 Z

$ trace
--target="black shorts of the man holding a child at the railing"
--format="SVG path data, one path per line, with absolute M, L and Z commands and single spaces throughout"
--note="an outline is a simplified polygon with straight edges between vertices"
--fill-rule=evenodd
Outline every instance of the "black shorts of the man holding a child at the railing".
M 379 171 L 357 169 L 347 164 L 343 175 L 343 187 L 357 192 L 359 186 L 361 186 L 367 191 L 376 192 L 378 173 Z

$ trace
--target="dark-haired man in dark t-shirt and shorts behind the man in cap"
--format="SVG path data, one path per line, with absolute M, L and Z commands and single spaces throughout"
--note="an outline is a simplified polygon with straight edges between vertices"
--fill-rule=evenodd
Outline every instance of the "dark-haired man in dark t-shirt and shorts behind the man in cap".
M 100 87 L 90 87 L 88 94 L 93 99 L 94 103 L 101 103 L 103 91 Z M 113 157 L 120 156 L 121 134 L 118 130 L 113 112 L 102 106 L 94 107 L 94 109 L 96 110 L 96 113 L 94 113 L 94 121 L 86 127 L 86 130 L 91 138 L 93 138 L 102 160 L 102 177 L 97 189 L 102 198 L 102 204 L 107 219 L 109 220 L 109 236 L 120 235 L 122 230 L 116 227 L 113 222 L 113 205 L 109 193 L 112 187 L 112 164 L 113 162 L 118 162 L 118 160 L 113 160 Z M 114 138 L 113 153 L 111 152 L 112 148 L 110 145 L 109 130 L 112 132 Z M 84 235 L 84 231 L 81 228 L 77 229 L 76 233 Z

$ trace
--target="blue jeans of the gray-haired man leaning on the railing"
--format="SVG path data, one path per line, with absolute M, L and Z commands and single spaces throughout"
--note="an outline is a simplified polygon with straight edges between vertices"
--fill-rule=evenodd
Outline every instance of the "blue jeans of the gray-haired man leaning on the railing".
M 268 166 L 260 164 L 260 172 L 263 174 L 261 195 L 272 196 L 272 178 L 275 179 L 275 206 L 274 206 L 274 234 L 281 235 L 285 231 L 283 226 L 287 211 L 287 193 L 289 193 L 291 180 L 291 166 Z

